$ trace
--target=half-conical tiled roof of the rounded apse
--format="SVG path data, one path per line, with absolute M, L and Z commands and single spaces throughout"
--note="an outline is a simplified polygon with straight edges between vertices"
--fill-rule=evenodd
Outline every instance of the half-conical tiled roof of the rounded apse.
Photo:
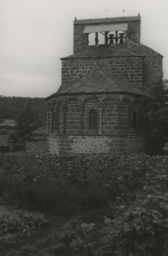
M 60 86 L 60 89 L 46 99 L 61 94 L 76 93 L 127 93 L 148 96 L 143 91 L 116 78 L 104 69 L 95 68 L 70 85 Z

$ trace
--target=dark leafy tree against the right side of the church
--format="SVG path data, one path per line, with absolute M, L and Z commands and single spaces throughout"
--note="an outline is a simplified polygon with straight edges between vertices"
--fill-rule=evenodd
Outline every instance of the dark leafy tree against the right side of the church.
M 143 127 L 147 134 L 147 146 L 151 155 L 163 154 L 168 140 L 168 80 L 160 78 L 143 102 Z

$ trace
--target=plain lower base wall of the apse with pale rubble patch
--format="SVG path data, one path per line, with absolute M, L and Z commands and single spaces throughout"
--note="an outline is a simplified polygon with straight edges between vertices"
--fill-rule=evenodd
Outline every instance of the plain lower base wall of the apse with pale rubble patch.
M 142 135 L 68 136 L 48 135 L 47 152 L 60 155 L 121 155 L 140 154 L 146 144 Z

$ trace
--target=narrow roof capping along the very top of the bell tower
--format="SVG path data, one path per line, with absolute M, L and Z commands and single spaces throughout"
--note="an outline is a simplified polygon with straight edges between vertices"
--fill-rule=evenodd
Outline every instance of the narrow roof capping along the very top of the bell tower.
M 75 19 L 73 24 L 92 24 L 92 23 L 107 23 L 107 22 L 128 22 L 133 20 L 141 20 L 141 16 L 127 16 L 103 19 Z

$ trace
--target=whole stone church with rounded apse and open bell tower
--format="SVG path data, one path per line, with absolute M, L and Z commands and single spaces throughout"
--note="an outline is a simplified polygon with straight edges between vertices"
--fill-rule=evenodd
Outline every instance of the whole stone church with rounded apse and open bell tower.
M 143 97 L 162 74 L 159 53 L 140 43 L 141 17 L 75 18 L 73 54 L 47 101 L 47 152 L 139 154 Z

